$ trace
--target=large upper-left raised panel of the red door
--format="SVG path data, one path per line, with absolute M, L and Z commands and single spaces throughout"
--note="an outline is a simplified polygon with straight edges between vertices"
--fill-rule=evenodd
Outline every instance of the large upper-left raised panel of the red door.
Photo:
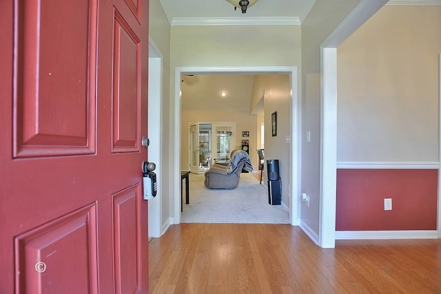
M 93 154 L 96 3 L 17 1 L 15 17 L 14 156 Z

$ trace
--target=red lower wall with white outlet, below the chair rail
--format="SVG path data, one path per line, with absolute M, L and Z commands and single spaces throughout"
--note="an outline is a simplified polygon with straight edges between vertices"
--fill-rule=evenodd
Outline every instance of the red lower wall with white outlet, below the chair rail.
M 436 169 L 338 169 L 336 231 L 435 230 L 437 185 Z

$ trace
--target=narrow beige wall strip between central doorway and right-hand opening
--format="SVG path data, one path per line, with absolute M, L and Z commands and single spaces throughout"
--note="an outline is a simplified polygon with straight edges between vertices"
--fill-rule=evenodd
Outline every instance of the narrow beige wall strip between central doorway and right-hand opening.
M 300 207 L 300 227 L 316 242 L 320 229 L 320 46 L 359 2 L 317 0 L 302 23 L 301 190 L 309 195 L 310 204 Z M 309 143 L 307 132 L 311 132 Z

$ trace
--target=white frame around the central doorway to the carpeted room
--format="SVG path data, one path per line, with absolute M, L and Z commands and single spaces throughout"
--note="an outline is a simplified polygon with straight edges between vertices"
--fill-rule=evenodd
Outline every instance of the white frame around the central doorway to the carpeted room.
M 297 67 L 295 66 L 238 66 L 238 67 L 175 67 L 174 72 L 174 223 L 181 222 L 181 74 L 289 74 L 291 83 L 291 149 L 289 175 L 289 217 L 298 225 L 300 195 L 300 99 L 298 99 Z M 294 197 L 294 198 L 293 198 Z

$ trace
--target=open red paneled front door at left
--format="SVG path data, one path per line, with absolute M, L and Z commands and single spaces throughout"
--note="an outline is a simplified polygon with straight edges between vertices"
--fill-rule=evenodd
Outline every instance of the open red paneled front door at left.
M 147 293 L 147 0 L 0 2 L 0 293 Z

